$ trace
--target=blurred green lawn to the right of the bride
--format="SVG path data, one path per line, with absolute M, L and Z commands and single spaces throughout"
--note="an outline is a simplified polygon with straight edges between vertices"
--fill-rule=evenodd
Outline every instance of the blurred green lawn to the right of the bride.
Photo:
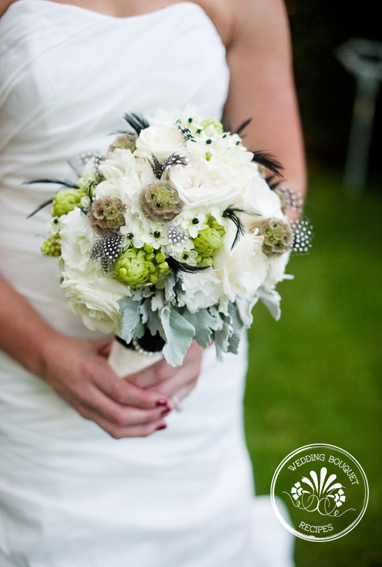
M 382 565 L 382 187 L 349 196 L 330 172 L 311 172 L 309 185 L 312 251 L 291 258 L 295 280 L 277 288 L 279 322 L 263 305 L 254 308 L 247 443 L 257 494 L 269 494 L 277 465 L 300 446 L 325 443 L 351 453 L 369 482 L 365 515 L 338 540 L 298 538 L 296 566 L 376 567 Z

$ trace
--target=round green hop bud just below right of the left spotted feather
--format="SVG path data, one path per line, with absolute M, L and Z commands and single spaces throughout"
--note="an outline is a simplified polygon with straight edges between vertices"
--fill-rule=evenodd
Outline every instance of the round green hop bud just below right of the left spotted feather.
M 147 262 L 146 252 L 131 247 L 116 261 L 114 276 L 119 282 L 131 287 L 142 287 L 150 278 L 152 262 Z

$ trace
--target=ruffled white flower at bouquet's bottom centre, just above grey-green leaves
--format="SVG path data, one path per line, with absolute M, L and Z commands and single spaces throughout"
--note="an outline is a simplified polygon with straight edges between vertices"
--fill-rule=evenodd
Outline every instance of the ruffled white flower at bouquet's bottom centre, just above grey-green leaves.
M 182 276 L 184 295 L 178 296 L 178 305 L 191 313 L 217 305 L 222 294 L 222 281 L 213 270 L 184 273 Z

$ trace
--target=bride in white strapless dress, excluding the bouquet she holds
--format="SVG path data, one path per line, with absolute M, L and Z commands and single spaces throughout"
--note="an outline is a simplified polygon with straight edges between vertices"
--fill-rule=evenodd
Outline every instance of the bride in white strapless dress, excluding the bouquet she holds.
M 252 497 L 245 345 L 223 363 L 193 345 L 181 368 L 116 377 L 41 255 L 49 211 L 26 220 L 52 189 L 23 184 L 70 177 L 125 112 L 192 104 L 233 127 L 252 117 L 245 143 L 302 193 L 283 4 L 0 6 L 0 566 L 291 565 L 289 534 Z

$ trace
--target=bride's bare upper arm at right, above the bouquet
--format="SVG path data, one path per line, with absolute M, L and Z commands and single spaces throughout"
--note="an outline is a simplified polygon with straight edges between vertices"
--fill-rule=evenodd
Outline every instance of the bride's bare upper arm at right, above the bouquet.
M 284 166 L 282 184 L 303 198 L 305 156 L 284 2 L 236 0 L 226 5 L 231 8 L 226 40 L 231 80 L 225 119 L 233 131 L 252 119 L 244 144 L 272 153 Z

